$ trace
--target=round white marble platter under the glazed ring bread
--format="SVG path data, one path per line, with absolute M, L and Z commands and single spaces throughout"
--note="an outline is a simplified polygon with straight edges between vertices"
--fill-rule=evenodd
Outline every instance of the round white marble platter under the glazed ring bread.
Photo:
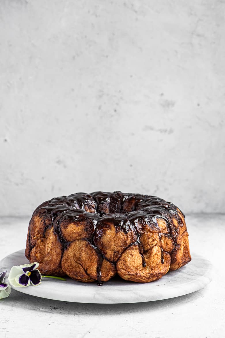
M 13 265 L 27 264 L 25 249 L 13 252 L 0 261 L 0 268 L 8 272 Z M 169 271 L 160 280 L 151 283 L 134 283 L 114 277 L 103 286 L 81 283 L 67 277 L 66 281 L 43 278 L 37 287 L 13 289 L 48 299 L 76 303 L 119 304 L 138 303 L 182 296 L 197 291 L 211 282 L 211 263 L 192 253 L 192 261 L 176 271 Z M 7 279 L 6 279 L 7 281 Z

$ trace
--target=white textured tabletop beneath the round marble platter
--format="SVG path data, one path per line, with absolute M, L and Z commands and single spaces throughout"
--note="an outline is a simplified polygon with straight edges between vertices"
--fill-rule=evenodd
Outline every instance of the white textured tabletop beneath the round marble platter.
M 1 218 L 0 260 L 25 247 L 29 218 Z M 188 215 L 190 250 L 213 263 L 213 281 L 176 298 L 135 304 L 82 304 L 12 290 L 0 300 L 1 337 L 219 338 L 225 332 L 225 215 Z

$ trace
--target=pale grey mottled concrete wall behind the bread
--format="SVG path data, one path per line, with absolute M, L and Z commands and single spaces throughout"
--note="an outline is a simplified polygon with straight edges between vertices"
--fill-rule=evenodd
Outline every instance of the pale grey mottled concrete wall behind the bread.
M 1 215 L 95 190 L 225 211 L 223 1 L 0 11 Z

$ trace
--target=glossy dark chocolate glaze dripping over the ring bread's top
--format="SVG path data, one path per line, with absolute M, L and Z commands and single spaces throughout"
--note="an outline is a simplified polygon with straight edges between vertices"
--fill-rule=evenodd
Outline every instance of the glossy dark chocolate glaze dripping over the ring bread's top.
M 67 242 L 61 233 L 60 223 L 65 220 L 81 220 L 90 219 L 93 224 L 93 235 L 86 238 L 96 250 L 99 258 L 97 265 L 97 285 L 102 285 L 101 266 L 105 258 L 99 248 L 95 245 L 98 236 L 101 236 L 101 226 L 109 226 L 114 224 L 116 231 L 122 231 L 125 234 L 132 231 L 136 234 L 137 240 L 134 241 L 138 245 L 139 253 L 142 259 L 142 266 L 146 267 L 144 259 L 144 251 L 141 244 L 141 235 L 144 226 L 148 225 L 151 232 L 159 233 L 160 246 L 161 233 L 157 224 L 157 218 L 166 221 L 168 234 L 164 234 L 173 239 L 176 247 L 177 233 L 174 228 L 172 218 L 181 223 L 181 217 L 184 214 L 170 202 L 149 195 L 125 194 L 121 191 L 109 192 L 93 192 L 91 194 L 76 193 L 69 196 L 55 197 L 49 201 L 42 203 L 36 210 L 43 210 L 51 216 L 54 231 L 65 250 L 70 242 Z M 57 217 L 57 221 L 55 221 Z M 98 228 L 99 227 L 99 228 Z M 115 263 L 115 262 L 114 262 Z M 161 263 L 164 264 L 164 254 L 161 248 Z

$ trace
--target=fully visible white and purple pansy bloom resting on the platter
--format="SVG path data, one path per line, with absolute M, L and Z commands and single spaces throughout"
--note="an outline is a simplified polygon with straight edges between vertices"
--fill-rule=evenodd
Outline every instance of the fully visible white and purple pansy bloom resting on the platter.
M 37 270 L 39 263 L 14 265 L 9 272 L 9 283 L 14 287 L 36 286 L 41 283 L 41 273 Z

